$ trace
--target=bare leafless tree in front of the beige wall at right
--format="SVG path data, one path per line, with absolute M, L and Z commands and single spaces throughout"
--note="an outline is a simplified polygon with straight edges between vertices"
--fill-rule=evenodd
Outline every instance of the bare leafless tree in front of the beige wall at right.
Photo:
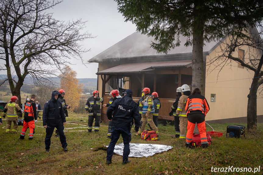
M 243 33 L 238 35 L 230 36 L 229 40 L 225 40 L 221 44 L 222 54 L 214 59 L 210 60 L 211 65 L 217 66 L 219 68 L 219 73 L 222 68 L 226 65 L 231 65 L 232 61 L 238 62 L 241 66 L 249 71 L 254 72 L 254 78 L 251 82 L 250 92 L 248 94 L 247 103 L 247 128 L 256 129 L 257 128 L 257 93 L 262 96 L 262 84 L 263 84 L 263 26 L 262 22 L 257 23 L 257 28 L 251 28 L 250 30 L 245 30 Z M 245 59 L 240 59 L 234 57 L 233 54 L 238 48 L 243 46 L 248 47 L 245 53 L 247 57 Z M 209 68 L 208 68 L 209 70 Z M 218 73 L 218 75 L 219 75 Z M 261 88 L 260 88 L 261 87 Z

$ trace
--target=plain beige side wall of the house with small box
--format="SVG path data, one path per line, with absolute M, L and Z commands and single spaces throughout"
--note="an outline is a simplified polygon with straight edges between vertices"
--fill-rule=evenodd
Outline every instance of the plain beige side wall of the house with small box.
M 245 50 L 245 59 L 247 59 L 247 47 L 240 49 Z M 219 51 L 221 49 L 217 47 L 207 56 L 207 65 L 211 58 L 218 55 Z M 237 50 L 233 56 L 238 57 Z M 238 63 L 235 61 L 228 61 L 228 63 L 222 67 L 221 72 L 219 72 L 221 69 L 219 67 L 206 67 L 205 98 L 210 106 L 206 121 L 247 116 L 247 95 L 249 94 L 254 72 L 247 71 L 246 68 L 238 68 Z M 213 71 L 210 72 L 211 70 Z M 211 102 L 211 94 L 216 94 L 215 102 Z M 258 98 L 258 115 L 263 115 L 262 106 L 263 99 Z

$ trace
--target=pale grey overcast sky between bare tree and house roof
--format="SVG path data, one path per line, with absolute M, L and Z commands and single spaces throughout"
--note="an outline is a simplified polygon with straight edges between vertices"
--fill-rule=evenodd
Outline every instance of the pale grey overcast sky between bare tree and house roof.
M 96 37 L 83 43 L 86 49 L 91 49 L 83 55 L 85 62 L 136 32 L 134 24 L 124 22 L 114 0 L 64 0 L 52 11 L 55 19 L 69 21 L 81 18 L 88 21 L 86 30 Z M 86 68 L 76 59 L 70 62 L 76 64 L 69 66 L 77 72 L 77 78 L 97 78 L 98 63 L 90 63 Z

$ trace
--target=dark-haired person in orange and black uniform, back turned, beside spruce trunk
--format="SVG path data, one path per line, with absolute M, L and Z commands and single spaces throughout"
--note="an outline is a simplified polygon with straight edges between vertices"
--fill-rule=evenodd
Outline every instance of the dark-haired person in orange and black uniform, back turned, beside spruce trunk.
M 194 133 L 195 123 L 201 137 L 201 144 L 203 148 L 208 147 L 208 141 L 205 128 L 205 116 L 209 111 L 209 105 L 204 96 L 201 95 L 199 88 L 195 88 L 191 95 L 187 98 L 185 111 L 188 117 L 186 147 L 189 147 Z

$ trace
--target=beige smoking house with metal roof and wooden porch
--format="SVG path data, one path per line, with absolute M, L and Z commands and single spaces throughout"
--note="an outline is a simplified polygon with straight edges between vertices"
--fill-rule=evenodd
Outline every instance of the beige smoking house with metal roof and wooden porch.
M 151 48 L 153 37 L 133 33 L 105 51 L 91 58 L 89 62 L 98 65 L 98 91 L 108 103 L 112 89 L 120 93 L 125 89 L 133 91 L 133 100 L 138 101 L 141 89 L 149 87 L 157 92 L 162 103 L 159 118 L 173 120 L 170 117 L 172 103 L 176 99 L 176 88 L 192 82 L 192 46 L 186 47 L 186 37 L 180 36 L 181 45 L 167 54 L 157 53 Z M 228 39 L 228 38 L 226 38 Z M 226 40 L 224 39 L 224 40 Z M 247 94 L 254 73 L 232 62 L 226 65 L 220 74 L 219 68 L 209 64 L 209 60 L 221 52 L 221 41 L 204 44 L 203 57 L 206 64 L 204 95 L 210 105 L 206 116 L 208 123 L 247 122 Z M 247 48 L 236 51 L 246 57 Z M 208 66 L 209 64 L 209 66 Z M 211 70 L 213 70 L 211 72 Z M 219 76 L 218 76 L 219 75 Z M 258 122 L 263 122 L 263 99 L 258 99 Z M 102 108 L 101 120 L 107 122 L 106 107 Z

